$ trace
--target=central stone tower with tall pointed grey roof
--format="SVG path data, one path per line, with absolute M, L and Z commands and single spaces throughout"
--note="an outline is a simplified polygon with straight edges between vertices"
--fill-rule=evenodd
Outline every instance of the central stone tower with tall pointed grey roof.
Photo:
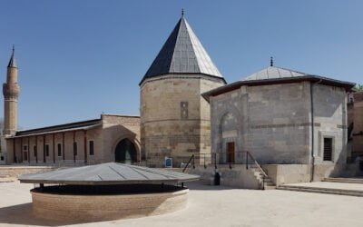
M 201 94 L 226 84 L 185 17 L 140 83 L 142 155 L 150 166 L 211 153 L 210 106 Z M 200 155 L 196 155 L 200 156 Z

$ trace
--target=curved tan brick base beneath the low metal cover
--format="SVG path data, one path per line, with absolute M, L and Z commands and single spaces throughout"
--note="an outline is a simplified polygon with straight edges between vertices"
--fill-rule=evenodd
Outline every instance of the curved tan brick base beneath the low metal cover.
M 34 215 L 50 220 L 96 222 L 175 212 L 187 204 L 188 189 L 135 194 L 56 194 L 32 190 Z

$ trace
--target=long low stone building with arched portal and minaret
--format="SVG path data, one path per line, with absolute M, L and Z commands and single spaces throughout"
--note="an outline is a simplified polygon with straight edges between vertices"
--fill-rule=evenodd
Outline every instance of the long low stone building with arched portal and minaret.
M 140 117 L 101 114 L 98 119 L 17 131 L 20 87 L 15 50 L 7 66 L 1 163 L 78 164 L 141 160 Z

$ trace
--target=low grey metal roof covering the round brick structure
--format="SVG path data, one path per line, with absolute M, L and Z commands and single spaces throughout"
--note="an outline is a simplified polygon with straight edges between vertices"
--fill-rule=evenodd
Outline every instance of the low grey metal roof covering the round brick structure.
M 152 169 L 123 163 L 102 163 L 58 169 L 45 173 L 24 174 L 21 183 L 62 183 L 108 185 L 133 183 L 183 183 L 197 181 L 198 175 Z

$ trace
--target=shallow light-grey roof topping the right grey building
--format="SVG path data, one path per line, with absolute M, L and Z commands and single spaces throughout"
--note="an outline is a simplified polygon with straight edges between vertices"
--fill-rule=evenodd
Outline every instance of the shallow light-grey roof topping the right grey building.
M 305 75 L 308 74 L 276 66 L 269 66 L 265 69 L 260 70 L 257 73 L 250 74 L 249 76 L 243 78 L 241 81 L 268 80 L 268 79 L 289 78 L 289 77 L 297 77 Z

